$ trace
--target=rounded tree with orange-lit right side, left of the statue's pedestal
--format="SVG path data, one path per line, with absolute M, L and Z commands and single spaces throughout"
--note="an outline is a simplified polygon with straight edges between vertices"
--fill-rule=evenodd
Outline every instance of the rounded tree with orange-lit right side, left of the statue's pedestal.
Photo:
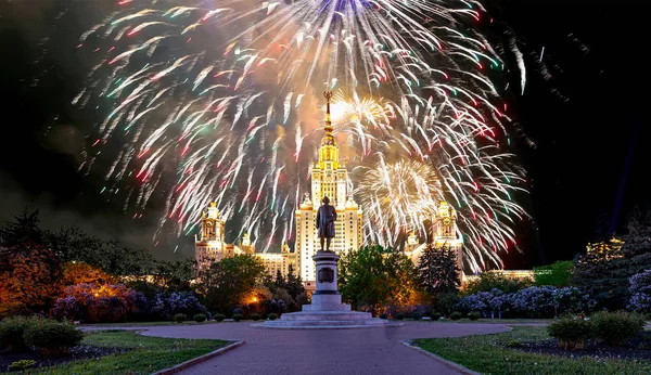
M 221 313 L 232 309 L 251 293 L 256 285 L 264 284 L 265 264 L 253 255 L 237 255 L 213 263 L 201 275 L 197 289 L 203 294 L 206 307 Z

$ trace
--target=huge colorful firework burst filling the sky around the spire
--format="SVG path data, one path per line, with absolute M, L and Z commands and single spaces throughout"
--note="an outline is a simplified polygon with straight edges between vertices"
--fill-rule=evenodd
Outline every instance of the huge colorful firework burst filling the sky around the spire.
M 354 114 L 339 131 L 362 151 L 348 164 L 429 166 L 438 181 L 429 190 L 467 210 L 465 235 L 478 235 L 467 242 L 473 268 L 500 264 L 514 234 L 498 219 L 525 212 L 511 202 L 522 171 L 489 78 L 503 63 L 475 27 L 480 2 L 209 3 L 120 1 L 80 38 L 97 62 L 74 103 L 106 114 L 82 167 L 111 159 L 113 190 L 137 179 L 126 209 L 164 194 L 159 228 L 181 234 L 215 199 L 259 250 L 291 241 L 321 137 L 315 93 L 334 89 Z M 110 143 L 120 151 L 106 156 Z

